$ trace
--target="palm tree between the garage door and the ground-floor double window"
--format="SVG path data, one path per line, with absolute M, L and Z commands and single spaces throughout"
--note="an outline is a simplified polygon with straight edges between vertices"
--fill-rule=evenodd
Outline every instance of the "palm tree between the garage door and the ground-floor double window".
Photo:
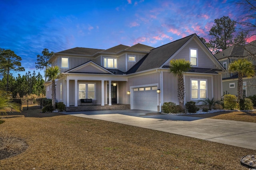
M 184 72 L 187 72 L 191 68 L 192 64 L 190 61 L 185 59 L 177 59 L 170 61 L 170 72 L 174 76 L 178 75 L 178 99 L 179 105 L 184 107 L 184 96 L 185 96 L 185 84 L 183 79 Z

